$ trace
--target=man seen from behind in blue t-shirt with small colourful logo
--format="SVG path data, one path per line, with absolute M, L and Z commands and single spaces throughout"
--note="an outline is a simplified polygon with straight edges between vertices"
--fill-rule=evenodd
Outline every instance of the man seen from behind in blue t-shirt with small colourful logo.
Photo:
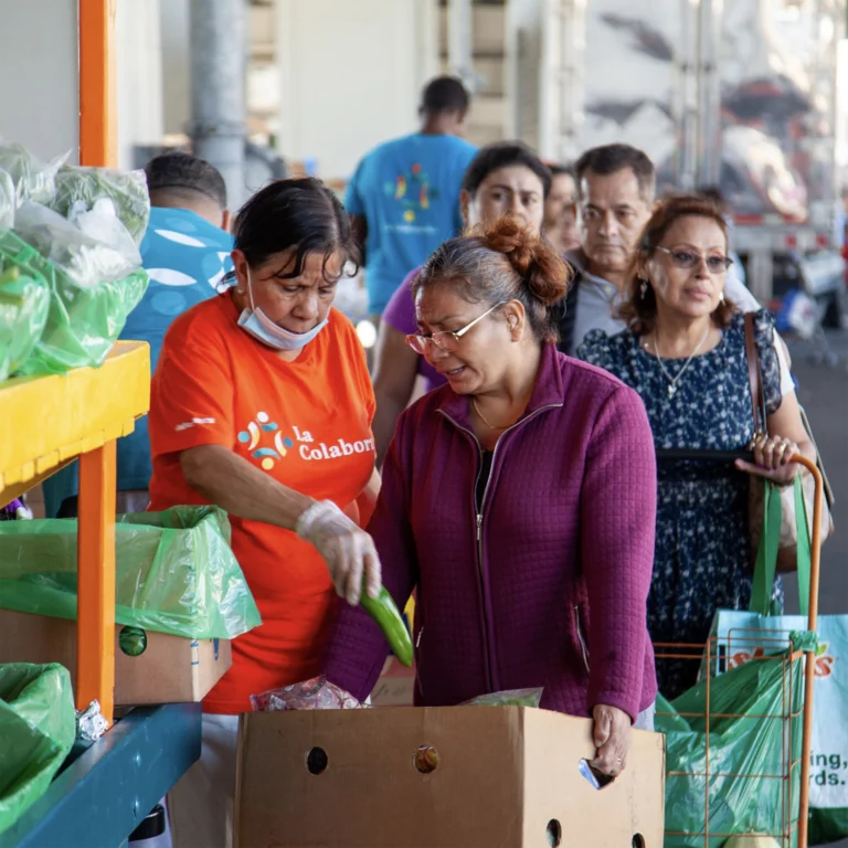
M 418 132 L 368 153 L 344 205 L 364 245 L 369 311 L 385 309 L 398 286 L 463 226 L 459 191 L 476 148 L 462 138 L 468 92 L 451 76 L 424 89 Z

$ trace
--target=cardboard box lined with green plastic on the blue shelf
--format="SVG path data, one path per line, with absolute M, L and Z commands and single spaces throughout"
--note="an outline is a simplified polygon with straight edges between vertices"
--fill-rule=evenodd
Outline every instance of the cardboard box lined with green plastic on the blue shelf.
M 201 701 L 232 665 L 227 639 L 184 639 L 145 630 L 137 657 L 120 648 L 115 628 L 115 703 Z M 76 622 L 0 610 L 0 662 L 61 662 L 76 677 Z

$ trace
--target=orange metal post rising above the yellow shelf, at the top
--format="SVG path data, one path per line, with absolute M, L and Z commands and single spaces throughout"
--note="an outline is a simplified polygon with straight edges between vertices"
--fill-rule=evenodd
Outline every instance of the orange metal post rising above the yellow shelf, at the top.
M 115 0 L 80 0 L 80 161 L 117 165 Z

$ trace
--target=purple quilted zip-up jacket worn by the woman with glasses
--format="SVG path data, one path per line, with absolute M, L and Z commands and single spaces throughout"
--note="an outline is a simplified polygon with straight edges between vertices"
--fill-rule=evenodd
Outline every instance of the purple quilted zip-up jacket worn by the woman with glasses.
M 646 602 L 657 477 L 639 396 L 545 344 L 524 416 L 500 437 L 481 510 L 467 398 L 443 386 L 404 412 L 369 524 L 383 583 L 415 604 L 415 703 L 544 687 L 542 707 L 633 720 L 657 695 Z M 388 655 L 340 611 L 326 674 L 360 700 Z

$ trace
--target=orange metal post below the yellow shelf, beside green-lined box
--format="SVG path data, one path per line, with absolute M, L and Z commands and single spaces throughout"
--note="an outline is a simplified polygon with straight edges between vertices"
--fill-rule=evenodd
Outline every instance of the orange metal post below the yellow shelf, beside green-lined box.
M 95 698 L 112 724 L 115 707 L 116 445 L 80 457 L 76 707 Z

